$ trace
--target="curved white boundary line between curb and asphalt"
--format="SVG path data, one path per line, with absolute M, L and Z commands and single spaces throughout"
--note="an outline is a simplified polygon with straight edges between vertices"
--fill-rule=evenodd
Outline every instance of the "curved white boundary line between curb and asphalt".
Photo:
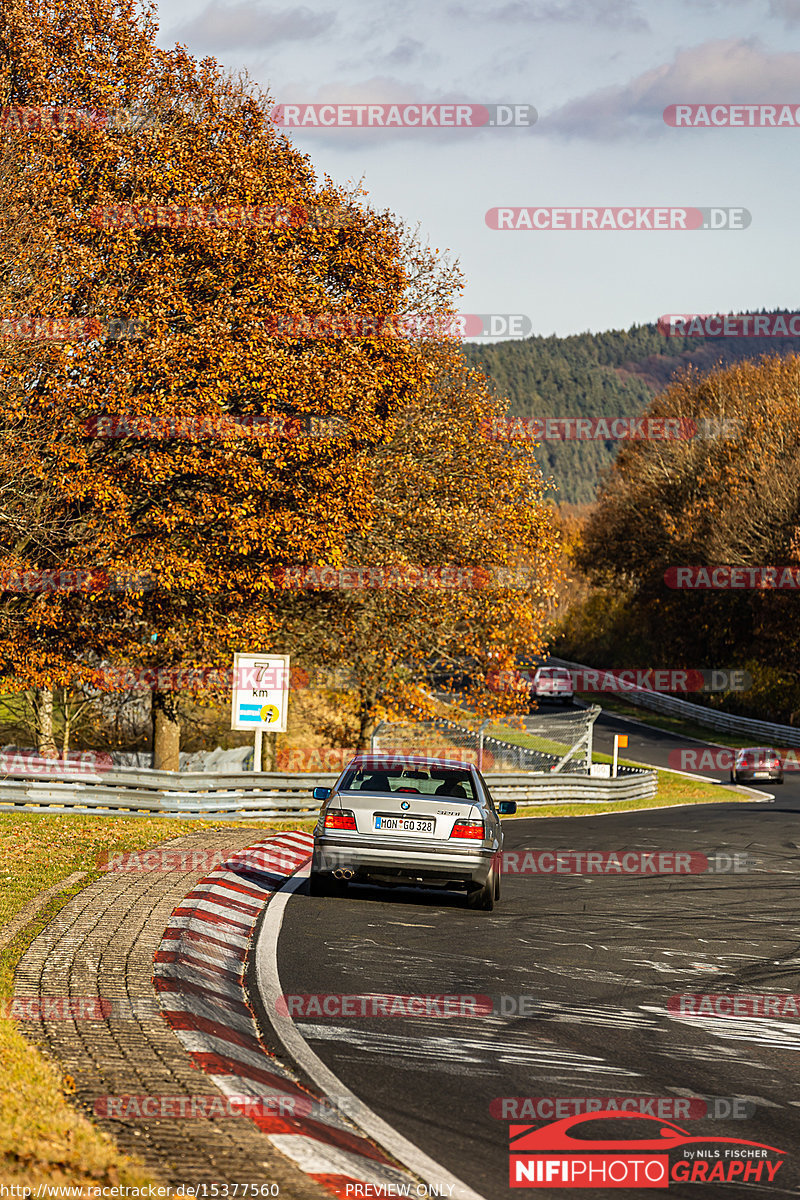
M 347 1102 L 345 1111 L 349 1117 L 374 1141 L 377 1141 L 387 1153 L 408 1168 L 414 1175 L 423 1180 L 428 1187 L 440 1187 L 445 1184 L 452 1188 L 450 1193 L 452 1200 L 486 1200 L 485 1196 L 473 1192 L 459 1178 L 451 1175 L 444 1166 L 439 1166 L 432 1158 L 428 1158 L 414 1142 L 403 1138 L 392 1126 L 387 1124 L 383 1117 L 359 1099 L 333 1072 L 325 1066 L 321 1058 L 314 1054 L 306 1039 L 301 1036 L 297 1026 L 290 1016 L 281 1016 L 276 1010 L 276 1001 L 283 995 L 281 976 L 278 973 L 278 937 L 283 925 L 285 907 L 307 878 L 308 868 L 301 875 L 294 875 L 278 890 L 276 890 L 266 906 L 264 923 L 255 942 L 255 978 L 258 990 L 267 1013 L 272 1028 L 281 1044 L 290 1055 L 294 1062 L 301 1067 L 306 1074 L 313 1079 L 325 1096 L 341 1096 Z

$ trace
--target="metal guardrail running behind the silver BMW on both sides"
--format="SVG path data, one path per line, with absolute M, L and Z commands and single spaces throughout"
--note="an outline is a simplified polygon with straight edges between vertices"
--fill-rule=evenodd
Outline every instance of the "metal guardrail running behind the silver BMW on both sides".
M 0 812 L 77 816 L 173 817 L 182 821 L 314 817 L 314 787 L 330 787 L 332 774 L 239 772 L 192 775 L 119 770 L 95 779 L 66 781 L 52 775 L 0 781 Z M 519 804 L 600 804 L 655 796 L 656 773 L 628 768 L 615 780 L 585 775 L 487 774 L 492 794 Z

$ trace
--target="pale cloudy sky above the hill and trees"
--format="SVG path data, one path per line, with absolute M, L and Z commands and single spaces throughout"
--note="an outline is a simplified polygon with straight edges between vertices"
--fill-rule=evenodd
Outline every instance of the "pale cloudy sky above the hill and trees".
M 243 67 L 303 114 L 533 106 L 531 125 L 285 130 L 320 179 L 361 185 L 457 262 L 462 313 L 564 336 L 666 313 L 800 308 L 800 110 L 776 128 L 673 127 L 663 115 L 670 104 L 794 114 L 800 0 L 162 0 L 160 26 L 161 46 Z M 745 209 L 750 221 L 491 228 L 487 212 L 504 206 Z

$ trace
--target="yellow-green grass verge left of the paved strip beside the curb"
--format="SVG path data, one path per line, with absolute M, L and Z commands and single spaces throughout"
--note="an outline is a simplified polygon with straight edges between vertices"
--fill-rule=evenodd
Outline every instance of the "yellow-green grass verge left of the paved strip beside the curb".
M 245 828 L 242 822 L 224 821 L 0 814 L 0 931 L 41 892 L 85 871 L 83 880 L 54 895 L 2 949 L 0 997 L 13 995 L 16 966 L 37 934 L 72 895 L 102 876 L 97 859 L 103 851 L 145 850 L 193 829 L 225 824 L 239 832 Z M 248 822 L 246 828 L 257 841 L 269 830 L 312 827 L 313 821 L 291 820 Z M 0 1067 L 0 1183 L 34 1190 L 40 1183 L 76 1188 L 161 1183 L 72 1108 L 72 1080 L 23 1037 L 13 1020 L 2 1018 Z

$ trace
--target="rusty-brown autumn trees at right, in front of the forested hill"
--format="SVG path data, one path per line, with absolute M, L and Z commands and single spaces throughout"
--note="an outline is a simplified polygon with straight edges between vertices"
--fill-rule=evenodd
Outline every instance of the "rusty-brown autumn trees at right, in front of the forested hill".
M 796 674 L 794 592 L 676 589 L 668 571 L 800 563 L 800 359 L 688 373 L 649 415 L 682 419 L 686 436 L 620 449 L 577 556 L 606 592 L 612 643 L 658 666 L 763 660 Z

